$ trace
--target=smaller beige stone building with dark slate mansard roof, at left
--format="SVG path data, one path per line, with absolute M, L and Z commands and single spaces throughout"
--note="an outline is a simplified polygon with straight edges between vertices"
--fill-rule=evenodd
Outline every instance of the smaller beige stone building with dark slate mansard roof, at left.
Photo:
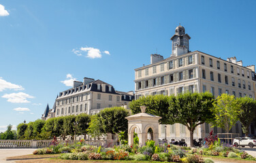
M 94 115 L 106 107 L 125 107 L 134 99 L 133 91 L 120 92 L 101 80 L 84 77 L 74 87 L 59 93 L 52 109 L 46 107 L 42 119 L 87 113 Z

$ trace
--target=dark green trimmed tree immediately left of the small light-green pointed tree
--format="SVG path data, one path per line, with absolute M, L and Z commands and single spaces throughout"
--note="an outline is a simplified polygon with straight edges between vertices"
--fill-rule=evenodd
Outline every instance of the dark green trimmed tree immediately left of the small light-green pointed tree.
M 84 134 L 84 137 L 86 137 L 87 134 L 87 128 L 89 127 L 89 122 L 91 121 L 91 116 L 86 113 L 81 113 L 76 116 L 76 122 L 78 125 L 76 125 L 76 133 L 78 134 Z

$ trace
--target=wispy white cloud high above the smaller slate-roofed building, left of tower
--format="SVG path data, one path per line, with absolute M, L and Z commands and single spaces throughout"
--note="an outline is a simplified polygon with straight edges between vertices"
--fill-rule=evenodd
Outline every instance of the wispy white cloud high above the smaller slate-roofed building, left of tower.
M 79 50 L 73 49 L 72 52 L 76 54 L 77 56 L 83 56 L 83 53 L 86 53 L 85 57 L 87 58 L 101 58 L 102 54 L 101 51 L 97 48 L 92 48 L 92 47 L 86 47 L 86 48 L 80 48 Z M 108 51 L 103 51 L 102 53 L 110 55 L 110 52 Z

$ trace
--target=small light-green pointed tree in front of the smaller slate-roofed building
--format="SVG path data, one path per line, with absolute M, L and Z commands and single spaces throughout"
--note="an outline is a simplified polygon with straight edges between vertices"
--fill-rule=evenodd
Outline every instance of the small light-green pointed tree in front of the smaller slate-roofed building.
M 102 135 L 101 130 L 101 124 L 99 124 L 99 116 L 98 115 L 92 115 L 91 116 L 91 122 L 89 122 L 89 128 L 87 128 L 87 132 L 90 134 L 91 137 L 99 137 Z

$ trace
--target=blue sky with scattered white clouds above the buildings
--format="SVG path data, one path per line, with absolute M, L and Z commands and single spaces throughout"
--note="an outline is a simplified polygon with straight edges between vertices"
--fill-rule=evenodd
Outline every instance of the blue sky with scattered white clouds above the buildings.
M 0 4 L 0 131 L 40 118 L 72 79 L 134 90 L 134 69 L 148 65 L 150 54 L 170 56 L 178 23 L 191 36 L 190 50 L 255 65 L 253 0 Z

